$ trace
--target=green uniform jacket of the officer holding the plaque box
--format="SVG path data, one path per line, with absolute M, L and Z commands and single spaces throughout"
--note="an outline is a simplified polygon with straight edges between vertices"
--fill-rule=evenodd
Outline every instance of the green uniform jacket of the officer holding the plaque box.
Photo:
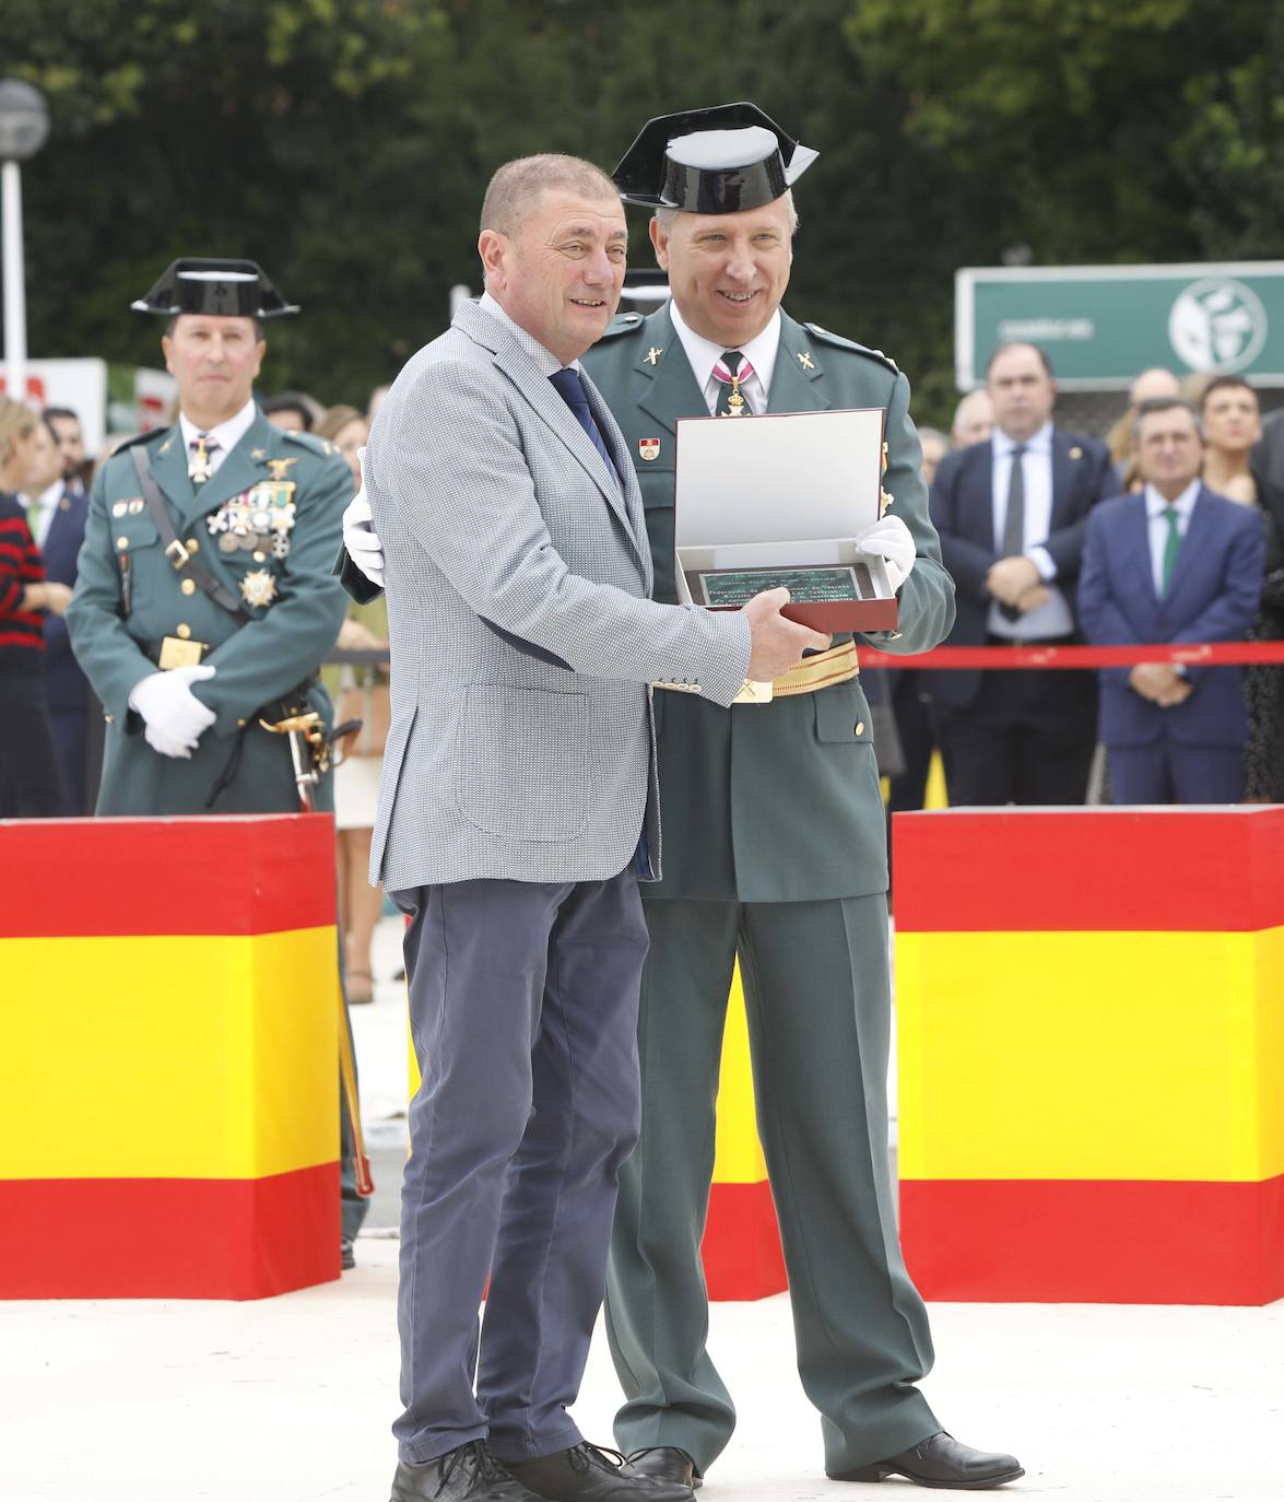
M 646 506 L 655 598 L 673 604 L 674 425 L 709 409 L 668 306 L 616 318 L 583 363 L 625 431 Z M 891 514 L 915 536 L 918 562 L 900 592 L 898 631 L 867 640 L 903 653 L 937 646 L 954 623 L 954 583 L 928 520 L 909 404 L 909 382 L 883 354 L 781 314 L 770 412 L 888 412 L 883 484 Z M 644 439 L 659 439 L 656 458 L 641 457 Z M 655 721 L 664 880 L 643 888 L 647 898 L 784 903 L 886 891 L 883 799 L 859 680 L 730 712 L 656 689 Z

